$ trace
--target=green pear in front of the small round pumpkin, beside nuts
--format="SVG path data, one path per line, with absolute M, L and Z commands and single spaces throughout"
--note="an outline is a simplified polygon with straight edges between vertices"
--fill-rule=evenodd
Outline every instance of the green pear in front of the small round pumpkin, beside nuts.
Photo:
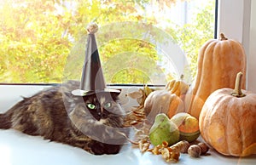
M 167 141 L 168 145 L 178 142 L 179 131 L 175 123 L 164 113 L 158 114 L 154 119 L 154 124 L 149 130 L 149 139 L 152 145 L 161 145 Z

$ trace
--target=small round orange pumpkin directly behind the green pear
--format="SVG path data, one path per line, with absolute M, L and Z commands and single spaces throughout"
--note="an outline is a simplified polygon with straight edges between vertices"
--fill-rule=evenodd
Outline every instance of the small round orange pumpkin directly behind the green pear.
M 155 90 L 145 100 L 144 111 L 149 122 L 154 122 L 154 118 L 159 113 L 165 113 L 171 118 L 178 112 L 184 111 L 183 100 L 170 91 Z

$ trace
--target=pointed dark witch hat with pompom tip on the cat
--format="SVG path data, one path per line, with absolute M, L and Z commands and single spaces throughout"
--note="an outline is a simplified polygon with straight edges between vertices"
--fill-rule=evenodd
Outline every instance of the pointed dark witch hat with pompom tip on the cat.
M 87 26 L 89 34 L 87 38 L 80 89 L 73 90 L 73 95 L 84 96 L 102 92 L 120 93 L 119 90 L 107 88 L 105 83 L 101 60 L 96 45 L 96 37 L 94 35 L 97 30 L 98 26 L 95 23 L 90 23 Z

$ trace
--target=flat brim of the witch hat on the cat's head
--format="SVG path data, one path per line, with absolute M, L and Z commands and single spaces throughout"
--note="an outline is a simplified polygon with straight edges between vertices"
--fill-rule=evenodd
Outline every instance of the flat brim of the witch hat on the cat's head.
M 91 95 L 91 94 L 99 94 L 99 93 L 121 93 L 120 90 L 113 89 L 113 88 L 104 88 L 104 89 L 97 89 L 93 91 L 86 91 L 82 89 L 76 89 L 72 91 L 72 94 L 75 96 L 86 96 L 86 95 Z

